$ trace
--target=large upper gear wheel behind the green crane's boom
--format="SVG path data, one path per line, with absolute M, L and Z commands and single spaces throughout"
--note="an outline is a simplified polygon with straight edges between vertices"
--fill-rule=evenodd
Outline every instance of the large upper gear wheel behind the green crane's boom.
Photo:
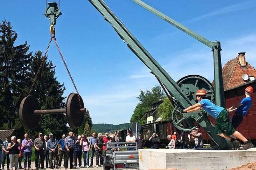
M 209 80 L 204 78 L 203 76 L 199 75 L 188 75 L 180 80 L 177 81 L 178 86 L 180 86 L 180 90 L 184 93 L 184 95 L 188 98 L 190 101 L 196 100 L 196 91 L 199 89 L 206 90 L 206 99 L 209 99 L 211 102 L 214 102 L 214 88 Z M 176 98 L 172 97 L 172 103 L 174 104 L 174 107 L 180 107 L 181 104 L 179 103 Z

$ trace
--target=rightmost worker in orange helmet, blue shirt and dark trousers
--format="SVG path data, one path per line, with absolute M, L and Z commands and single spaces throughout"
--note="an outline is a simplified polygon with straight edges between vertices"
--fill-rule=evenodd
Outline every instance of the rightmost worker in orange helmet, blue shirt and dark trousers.
M 244 117 L 246 116 L 250 107 L 252 106 L 252 98 L 250 97 L 252 93 L 253 88 L 251 86 L 248 86 L 244 92 L 245 98 L 243 98 L 243 100 L 238 104 L 227 109 L 228 112 L 236 110 L 232 117 L 232 125 L 234 129 L 236 129 L 242 123 Z

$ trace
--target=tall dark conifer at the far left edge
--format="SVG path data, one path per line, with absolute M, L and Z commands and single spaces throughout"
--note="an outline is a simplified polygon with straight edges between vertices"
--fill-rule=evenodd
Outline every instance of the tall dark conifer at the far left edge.
M 14 46 L 18 34 L 10 22 L 0 24 L 0 127 L 15 129 L 14 134 L 23 134 L 23 127 L 18 118 L 21 100 L 28 94 L 30 79 L 28 64 L 32 53 L 29 45 Z

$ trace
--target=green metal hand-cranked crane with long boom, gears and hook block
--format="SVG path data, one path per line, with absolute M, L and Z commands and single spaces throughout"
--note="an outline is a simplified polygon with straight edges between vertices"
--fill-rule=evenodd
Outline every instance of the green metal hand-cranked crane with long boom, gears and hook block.
M 220 58 L 220 42 L 211 42 L 204 37 L 198 35 L 194 31 L 188 29 L 184 25 L 178 23 L 177 21 L 171 19 L 170 17 L 162 14 L 158 10 L 152 8 L 148 4 L 145 4 L 141 0 L 132 0 L 145 8 L 146 10 L 152 12 L 156 16 L 162 18 L 168 23 L 174 25 L 181 31 L 184 31 L 191 37 L 194 37 L 201 43 L 210 47 L 213 51 L 214 57 L 214 80 L 215 80 L 215 90 L 212 84 L 204 77 L 200 75 L 188 75 L 178 82 L 175 82 L 171 76 L 157 63 L 157 61 L 150 55 L 150 53 L 140 44 L 140 42 L 132 35 L 132 33 L 125 27 L 125 25 L 115 16 L 115 14 L 108 8 L 103 0 L 89 0 L 89 2 L 102 14 L 104 19 L 108 21 L 114 30 L 118 33 L 121 39 L 126 42 L 129 49 L 150 69 L 152 74 L 156 76 L 161 86 L 164 88 L 166 94 L 170 97 L 172 104 L 174 104 L 175 109 L 172 112 L 172 122 L 177 129 L 182 131 L 191 131 L 200 125 L 208 133 L 211 139 L 216 143 L 216 149 L 230 149 L 232 144 L 230 141 L 218 136 L 214 132 L 214 125 L 208 119 L 208 114 L 204 111 L 198 111 L 196 113 L 181 113 L 181 109 L 192 106 L 196 104 L 195 93 L 198 89 L 204 89 L 207 92 L 206 98 L 211 102 L 214 102 L 222 107 L 225 107 L 224 99 L 224 89 L 222 80 L 222 65 Z M 52 8 L 47 8 L 45 15 L 50 19 L 50 23 L 54 25 L 56 18 L 61 14 L 56 7 L 56 4 L 52 3 L 49 5 Z M 52 10 L 51 10 L 52 9 Z M 55 9 L 55 13 L 53 12 Z M 59 12 L 59 13 L 58 13 Z M 53 33 L 52 33 L 53 34 Z M 168 92 L 167 92 L 167 91 Z

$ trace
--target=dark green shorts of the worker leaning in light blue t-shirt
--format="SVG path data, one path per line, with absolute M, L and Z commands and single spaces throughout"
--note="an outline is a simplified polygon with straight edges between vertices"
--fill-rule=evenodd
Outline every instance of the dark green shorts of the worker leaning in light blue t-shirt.
M 226 109 L 222 110 L 216 119 L 215 133 L 224 133 L 230 136 L 235 131 L 229 120 L 228 111 Z

